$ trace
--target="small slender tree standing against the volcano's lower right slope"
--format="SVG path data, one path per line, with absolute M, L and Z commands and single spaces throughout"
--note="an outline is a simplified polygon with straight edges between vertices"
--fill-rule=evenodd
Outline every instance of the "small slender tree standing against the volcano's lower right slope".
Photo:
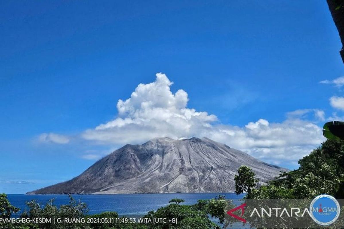
M 247 198 L 250 198 L 252 189 L 257 185 L 258 179 L 255 179 L 255 173 L 250 167 L 241 165 L 238 169 L 238 175 L 235 175 L 235 193 L 237 195 L 246 192 Z

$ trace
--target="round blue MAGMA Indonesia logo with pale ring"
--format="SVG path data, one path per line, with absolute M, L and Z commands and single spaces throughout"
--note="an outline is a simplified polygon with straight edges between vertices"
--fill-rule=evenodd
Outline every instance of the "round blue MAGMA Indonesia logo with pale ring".
M 324 226 L 333 224 L 338 219 L 340 210 L 338 201 L 325 194 L 315 197 L 309 207 L 314 222 Z

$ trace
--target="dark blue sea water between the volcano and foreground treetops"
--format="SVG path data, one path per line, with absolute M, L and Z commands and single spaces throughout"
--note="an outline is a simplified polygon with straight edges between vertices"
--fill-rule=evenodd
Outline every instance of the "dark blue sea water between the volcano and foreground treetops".
M 236 195 L 235 193 L 161 193 L 161 194 L 113 194 L 113 195 L 73 195 L 75 199 L 80 199 L 88 206 L 88 214 L 97 214 L 103 211 L 117 211 L 120 216 L 137 217 L 142 216 L 148 211 L 157 210 L 166 206 L 170 199 L 184 199 L 183 204 L 190 205 L 197 203 L 198 199 L 211 199 L 218 194 L 224 195 L 226 199 L 233 199 L 234 203 L 244 197 L 244 194 Z M 19 207 L 19 213 L 12 217 L 19 217 L 20 213 L 28 207 L 26 202 L 33 199 L 45 205 L 49 199 L 55 198 L 55 205 L 60 206 L 67 204 L 68 195 L 25 195 L 25 194 L 8 194 L 10 203 Z

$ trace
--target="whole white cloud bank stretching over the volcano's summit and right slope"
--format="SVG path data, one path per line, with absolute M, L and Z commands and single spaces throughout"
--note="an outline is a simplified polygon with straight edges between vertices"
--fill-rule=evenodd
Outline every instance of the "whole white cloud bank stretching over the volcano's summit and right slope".
M 324 140 L 322 128 L 302 119 L 313 112 L 323 121 L 322 110 L 290 112 L 281 123 L 259 119 L 244 127 L 218 124 L 215 115 L 187 108 L 187 93 L 178 90 L 173 94 L 173 82 L 164 74 L 156 76 L 152 83 L 139 84 L 129 99 L 118 101 L 117 118 L 84 131 L 83 138 L 118 145 L 139 144 L 154 137 L 208 137 L 274 163 L 295 163 Z

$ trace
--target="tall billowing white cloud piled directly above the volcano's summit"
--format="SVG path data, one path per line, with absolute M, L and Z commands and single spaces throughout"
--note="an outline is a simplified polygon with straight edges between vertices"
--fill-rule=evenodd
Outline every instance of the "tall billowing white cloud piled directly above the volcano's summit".
M 118 118 L 85 131 L 83 137 L 118 144 L 140 143 L 157 136 L 180 138 L 194 135 L 217 120 L 215 115 L 186 108 L 187 93 L 178 90 L 173 94 L 173 82 L 162 73 L 156 76 L 153 83 L 139 84 L 129 99 L 118 101 Z

